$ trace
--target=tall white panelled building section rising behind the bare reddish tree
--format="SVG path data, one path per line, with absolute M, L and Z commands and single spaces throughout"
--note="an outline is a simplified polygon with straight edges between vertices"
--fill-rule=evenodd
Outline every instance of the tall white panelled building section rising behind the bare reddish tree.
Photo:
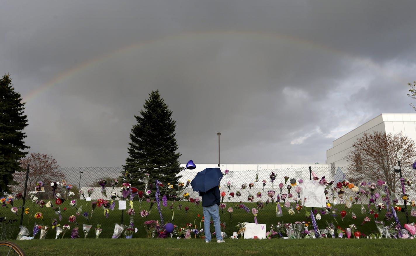
M 402 132 L 404 136 L 416 140 L 416 113 L 415 114 L 380 114 L 365 124 L 360 125 L 351 132 L 332 142 L 333 147 L 327 150 L 327 163 L 334 175 L 337 167 L 346 167 L 348 162 L 344 157 L 352 150 L 352 144 L 364 133 L 386 132 L 396 134 Z

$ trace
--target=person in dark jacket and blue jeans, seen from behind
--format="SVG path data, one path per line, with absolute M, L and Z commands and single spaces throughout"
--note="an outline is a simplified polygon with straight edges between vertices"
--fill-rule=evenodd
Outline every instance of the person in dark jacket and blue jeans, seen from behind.
M 220 213 L 218 206 L 220 205 L 220 188 L 215 186 L 206 192 L 199 191 L 199 196 L 202 196 L 202 208 L 204 213 L 204 234 L 205 242 L 211 241 L 210 222 L 211 217 L 214 222 L 215 236 L 217 237 L 217 243 L 225 242 L 223 236 L 221 236 L 220 226 Z

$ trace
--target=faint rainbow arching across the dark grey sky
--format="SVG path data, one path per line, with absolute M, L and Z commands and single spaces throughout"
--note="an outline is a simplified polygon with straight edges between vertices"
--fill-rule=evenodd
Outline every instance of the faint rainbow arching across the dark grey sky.
M 264 40 L 264 41 L 270 41 L 270 42 L 281 40 L 282 42 L 290 42 L 292 44 L 297 44 L 300 47 L 312 47 L 316 50 L 322 50 L 322 51 L 330 52 L 335 55 L 339 55 L 340 57 L 349 59 L 351 62 L 358 62 L 359 64 L 364 65 L 365 67 L 369 67 L 372 70 L 375 70 L 381 76 L 387 76 L 390 79 L 399 81 L 401 84 L 407 83 L 404 79 L 395 77 L 393 75 L 387 75 L 389 74 L 389 72 L 387 72 L 381 66 L 376 65 L 371 60 L 352 56 L 345 52 L 341 52 L 337 49 L 330 48 L 325 45 L 318 44 L 316 42 L 308 41 L 300 37 L 293 37 L 293 36 L 282 34 L 282 33 L 277 34 L 277 33 L 270 33 L 270 32 L 215 30 L 215 31 L 207 31 L 207 32 L 189 32 L 189 33 L 184 33 L 184 34 L 179 34 L 179 35 L 175 34 L 175 35 L 169 35 L 165 37 L 158 37 L 156 39 L 144 40 L 135 44 L 126 45 L 124 47 L 117 48 L 115 50 L 105 53 L 104 55 L 100 55 L 90 60 L 87 60 L 85 62 L 82 62 L 76 67 L 73 67 L 69 70 L 66 70 L 65 72 L 60 73 L 59 75 L 49 80 L 47 83 L 41 85 L 39 88 L 33 90 L 27 95 L 23 95 L 23 99 L 26 102 L 30 102 L 33 99 L 35 99 L 37 96 L 41 95 L 43 92 L 47 91 L 48 89 L 54 86 L 58 86 L 62 84 L 62 82 L 70 79 L 71 77 L 76 76 L 80 72 L 85 72 L 89 68 L 93 68 L 97 65 L 100 65 L 101 63 L 106 62 L 107 60 L 111 60 L 114 57 L 129 53 L 129 52 L 134 52 L 141 48 L 163 47 L 163 46 L 166 46 L 165 44 L 171 44 L 173 42 L 176 42 L 176 43 L 191 42 L 191 41 L 203 42 L 208 39 L 212 40 L 212 39 L 221 38 L 221 37 L 229 37 L 229 38 L 234 37 L 236 40 L 241 40 L 242 38 L 250 37 L 250 38 L 255 38 L 256 40 Z

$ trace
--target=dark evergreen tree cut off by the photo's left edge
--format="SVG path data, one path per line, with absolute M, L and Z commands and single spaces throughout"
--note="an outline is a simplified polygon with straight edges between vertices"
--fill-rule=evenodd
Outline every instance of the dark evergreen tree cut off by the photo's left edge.
M 23 150 L 29 148 L 23 142 L 27 137 L 23 132 L 27 126 L 24 106 L 20 93 L 12 86 L 10 74 L 5 74 L 0 79 L 0 195 L 10 192 L 8 185 L 17 184 L 12 174 L 24 171 L 19 163 L 27 154 Z

